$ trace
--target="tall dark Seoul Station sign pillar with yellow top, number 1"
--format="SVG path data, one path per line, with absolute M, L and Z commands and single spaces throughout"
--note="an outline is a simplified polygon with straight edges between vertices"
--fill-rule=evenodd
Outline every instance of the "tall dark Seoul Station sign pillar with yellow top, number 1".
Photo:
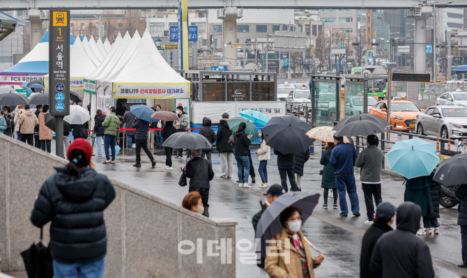
M 49 113 L 70 114 L 70 14 L 50 10 L 49 29 Z

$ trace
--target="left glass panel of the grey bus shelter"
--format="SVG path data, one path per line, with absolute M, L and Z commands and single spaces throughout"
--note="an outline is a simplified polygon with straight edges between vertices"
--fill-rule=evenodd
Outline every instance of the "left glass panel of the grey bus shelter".
M 313 82 L 314 125 L 332 125 L 336 120 L 336 84 Z

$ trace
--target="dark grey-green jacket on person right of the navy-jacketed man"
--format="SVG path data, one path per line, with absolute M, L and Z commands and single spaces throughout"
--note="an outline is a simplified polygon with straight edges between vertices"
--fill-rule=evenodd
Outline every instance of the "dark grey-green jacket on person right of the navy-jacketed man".
M 355 161 L 355 166 L 360 167 L 360 180 L 362 183 L 380 183 L 381 167 L 384 163 L 384 153 L 377 146 L 368 146 L 362 150 Z

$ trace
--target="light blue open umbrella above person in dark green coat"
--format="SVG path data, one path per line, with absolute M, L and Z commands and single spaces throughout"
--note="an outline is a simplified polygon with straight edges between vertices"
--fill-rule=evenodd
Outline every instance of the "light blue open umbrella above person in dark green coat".
M 436 148 L 421 139 L 398 141 L 389 151 L 391 171 L 406 178 L 428 176 L 440 162 Z

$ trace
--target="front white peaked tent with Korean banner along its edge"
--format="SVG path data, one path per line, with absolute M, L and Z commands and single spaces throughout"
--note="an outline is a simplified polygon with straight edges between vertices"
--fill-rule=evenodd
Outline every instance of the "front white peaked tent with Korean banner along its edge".
M 190 82 L 164 60 L 148 30 L 125 66 L 112 76 L 116 98 L 187 98 Z

